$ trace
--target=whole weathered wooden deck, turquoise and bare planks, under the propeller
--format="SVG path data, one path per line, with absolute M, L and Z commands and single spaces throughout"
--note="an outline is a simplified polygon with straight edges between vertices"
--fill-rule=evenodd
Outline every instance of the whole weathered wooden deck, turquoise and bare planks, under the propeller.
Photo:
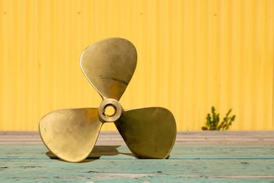
M 182 132 L 178 136 L 168 160 L 138 160 L 117 134 L 107 132 L 87 160 L 68 163 L 44 145 L 35 145 L 38 140 L 27 145 L 27 139 L 38 139 L 37 134 L 1 132 L 0 182 L 274 182 L 273 132 Z M 206 145 L 206 138 L 211 145 Z

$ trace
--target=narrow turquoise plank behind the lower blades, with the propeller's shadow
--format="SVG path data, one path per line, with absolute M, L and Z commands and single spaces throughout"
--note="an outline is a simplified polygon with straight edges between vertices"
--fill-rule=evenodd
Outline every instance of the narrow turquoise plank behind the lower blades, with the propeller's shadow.
M 0 159 L 48 159 L 44 145 L 0 145 Z M 47 153 L 49 156 L 52 154 Z M 135 159 L 126 146 L 97 146 L 90 158 Z M 271 159 L 273 145 L 180 145 L 170 159 Z

